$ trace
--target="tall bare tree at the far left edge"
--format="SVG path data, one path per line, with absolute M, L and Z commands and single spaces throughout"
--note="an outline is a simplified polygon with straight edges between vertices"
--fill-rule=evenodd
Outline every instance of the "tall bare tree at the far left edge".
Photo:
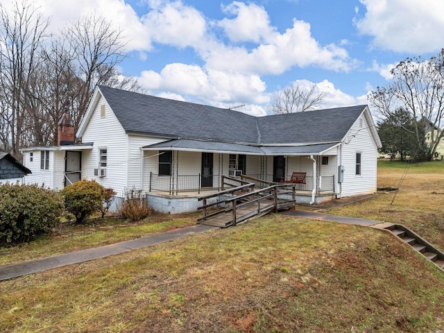
M 0 5 L 0 89 L 4 107 L 1 119 L 8 124 L 2 137 L 8 137 L 10 152 L 19 156 L 26 131 L 26 105 L 28 83 L 37 63 L 44 41 L 48 20 L 35 14 L 26 1 L 17 1 L 12 11 Z

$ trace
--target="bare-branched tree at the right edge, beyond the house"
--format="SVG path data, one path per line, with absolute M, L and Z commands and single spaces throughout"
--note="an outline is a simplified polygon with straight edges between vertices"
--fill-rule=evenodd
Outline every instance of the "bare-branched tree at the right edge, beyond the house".
M 431 160 L 444 134 L 440 130 L 444 117 L 444 50 L 429 60 L 407 58 L 391 74 L 391 82 L 377 87 L 369 101 L 385 118 L 404 108 L 413 121 L 418 158 Z

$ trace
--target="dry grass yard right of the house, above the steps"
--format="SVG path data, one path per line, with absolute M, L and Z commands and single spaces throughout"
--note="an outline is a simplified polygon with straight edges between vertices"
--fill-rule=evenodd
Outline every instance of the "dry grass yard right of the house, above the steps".
M 407 176 L 400 184 L 407 167 Z M 377 185 L 401 186 L 398 192 L 378 191 L 375 198 L 329 212 L 406 225 L 444 251 L 444 162 L 410 167 L 400 162 L 380 162 Z

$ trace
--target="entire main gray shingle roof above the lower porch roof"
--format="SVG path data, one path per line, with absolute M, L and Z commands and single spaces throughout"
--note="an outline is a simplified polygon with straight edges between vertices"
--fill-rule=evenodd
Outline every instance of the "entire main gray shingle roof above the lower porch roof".
M 366 105 L 254 117 L 99 86 L 126 133 L 250 144 L 339 142 Z

